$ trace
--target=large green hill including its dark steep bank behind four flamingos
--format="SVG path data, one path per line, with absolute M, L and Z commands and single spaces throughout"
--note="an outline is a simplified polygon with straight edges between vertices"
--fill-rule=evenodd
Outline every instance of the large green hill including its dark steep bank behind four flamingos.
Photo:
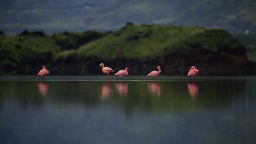
M 59 53 L 54 63 L 69 74 L 100 74 L 96 65 L 102 62 L 119 69 L 126 65 L 134 74 L 145 74 L 157 65 L 164 65 L 164 74 L 184 74 L 189 65 L 199 65 L 205 75 L 230 70 L 239 74 L 247 67 L 245 46 L 222 29 L 133 23 L 77 50 Z

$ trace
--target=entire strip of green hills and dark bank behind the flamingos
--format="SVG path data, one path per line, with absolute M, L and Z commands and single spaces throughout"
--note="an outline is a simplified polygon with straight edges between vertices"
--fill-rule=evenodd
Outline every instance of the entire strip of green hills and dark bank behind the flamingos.
M 149 68 L 154 69 L 154 64 L 161 64 L 166 65 L 165 74 L 180 74 L 172 69 L 211 62 L 216 69 L 219 63 L 241 69 L 247 63 L 245 46 L 223 29 L 132 22 L 114 32 L 1 34 L 0 58 L 1 74 L 34 74 L 42 65 L 51 67 L 51 74 L 97 74 L 95 65 L 100 62 L 118 68 L 152 65 Z

